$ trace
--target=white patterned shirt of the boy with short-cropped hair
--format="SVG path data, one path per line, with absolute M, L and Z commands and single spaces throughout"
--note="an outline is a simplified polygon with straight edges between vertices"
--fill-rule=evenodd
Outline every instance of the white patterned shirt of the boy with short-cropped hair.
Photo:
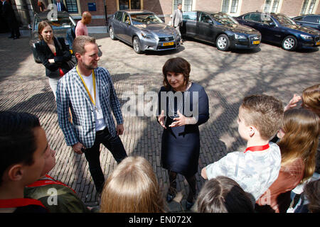
M 270 148 L 263 151 L 228 153 L 206 167 L 208 179 L 218 176 L 234 179 L 257 201 L 277 179 L 281 167 L 279 146 L 271 142 L 269 145 Z

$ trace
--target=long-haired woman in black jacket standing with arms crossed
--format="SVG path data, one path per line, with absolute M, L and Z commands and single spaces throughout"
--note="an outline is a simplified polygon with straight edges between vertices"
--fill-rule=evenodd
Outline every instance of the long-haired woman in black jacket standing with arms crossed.
M 46 67 L 46 76 L 49 77 L 49 84 L 55 95 L 58 80 L 70 70 L 67 62 L 72 56 L 65 46 L 65 40 L 53 36 L 53 29 L 48 22 L 41 21 L 38 24 L 38 34 L 41 41 L 36 43 L 36 50 Z

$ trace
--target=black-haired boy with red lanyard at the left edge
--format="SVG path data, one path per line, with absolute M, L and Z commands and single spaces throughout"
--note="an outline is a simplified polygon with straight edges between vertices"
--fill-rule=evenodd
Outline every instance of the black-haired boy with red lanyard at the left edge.
M 37 116 L 0 112 L 0 213 L 47 213 L 23 189 L 41 176 L 50 151 Z

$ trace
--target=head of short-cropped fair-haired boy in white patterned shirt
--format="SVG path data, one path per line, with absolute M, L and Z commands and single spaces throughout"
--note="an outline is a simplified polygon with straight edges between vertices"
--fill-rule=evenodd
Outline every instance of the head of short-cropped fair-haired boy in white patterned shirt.
M 255 128 L 260 137 L 270 140 L 282 126 L 283 105 L 278 99 L 265 94 L 246 96 L 239 108 L 239 133 L 248 139 Z

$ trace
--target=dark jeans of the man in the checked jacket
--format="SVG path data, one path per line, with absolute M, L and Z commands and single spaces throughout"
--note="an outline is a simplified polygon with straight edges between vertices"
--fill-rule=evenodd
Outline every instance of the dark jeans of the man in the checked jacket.
M 102 172 L 100 165 L 100 144 L 105 145 L 105 147 L 110 150 L 114 160 L 121 162 L 125 157 L 127 157 L 126 150 L 122 144 L 119 135 L 112 137 L 109 133 L 107 127 L 103 131 L 97 131 L 95 134 L 95 143 L 91 148 L 85 150 L 85 158 L 89 163 L 89 170 L 95 182 L 95 189 L 97 192 L 101 193 L 103 189 L 103 184 L 105 183 L 105 175 Z

